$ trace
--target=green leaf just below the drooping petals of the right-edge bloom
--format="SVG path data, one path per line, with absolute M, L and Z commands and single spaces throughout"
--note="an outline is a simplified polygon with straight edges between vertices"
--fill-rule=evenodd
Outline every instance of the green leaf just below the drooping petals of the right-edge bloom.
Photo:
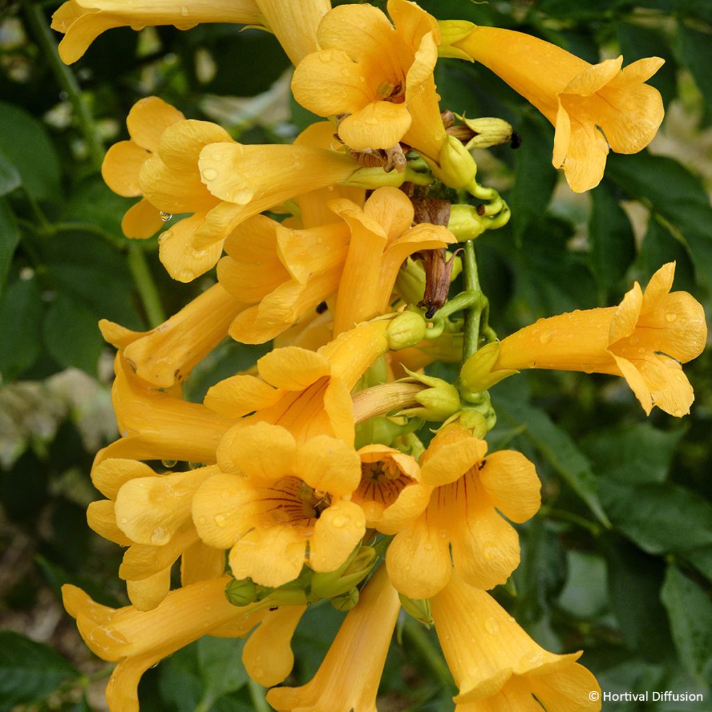
M 601 476 L 627 483 L 662 482 L 685 431 L 636 423 L 592 432 L 580 444 Z

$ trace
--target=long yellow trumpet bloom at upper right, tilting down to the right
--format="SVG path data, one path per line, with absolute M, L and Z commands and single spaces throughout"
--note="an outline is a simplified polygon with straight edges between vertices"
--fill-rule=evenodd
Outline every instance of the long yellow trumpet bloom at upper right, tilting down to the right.
M 582 192 L 599 184 L 609 148 L 637 153 L 663 120 L 660 93 L 644 82 L 664 60 L 622 68 L 623 58 L 591 65 L 531 35 L 473 27 L 454 47 L 481 62 L 535 105 L 555 127 L 555 167 Z

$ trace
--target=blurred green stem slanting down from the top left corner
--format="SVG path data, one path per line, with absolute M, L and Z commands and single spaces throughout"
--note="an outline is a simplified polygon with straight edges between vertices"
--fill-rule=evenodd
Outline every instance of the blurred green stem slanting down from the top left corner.
M 84 135 L 91 161 L 95 169 L 99 170 L 104 159 L 104 147 L 96 132 L 94 119 L 82 96 L 77 78 L 73 71 L 59 58 L 57 43 L 47 25 L 41 6 L 27 3 L 25 5 L 25 14 L 28 25 L 32 28 L 36 41 L 47 58 L 52 73 L 61 88 L 67 93 L 67 98 L 74 109 L 79 128 Z

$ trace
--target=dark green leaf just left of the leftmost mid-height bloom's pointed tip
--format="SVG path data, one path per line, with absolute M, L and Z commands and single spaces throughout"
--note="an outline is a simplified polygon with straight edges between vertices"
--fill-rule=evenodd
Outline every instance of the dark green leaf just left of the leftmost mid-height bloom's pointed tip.
M 45 315 L 42 333 L 48 352 L 63 366 L 96 375 L 104 341 L 98 318 L 66 294 L 58 294 Z

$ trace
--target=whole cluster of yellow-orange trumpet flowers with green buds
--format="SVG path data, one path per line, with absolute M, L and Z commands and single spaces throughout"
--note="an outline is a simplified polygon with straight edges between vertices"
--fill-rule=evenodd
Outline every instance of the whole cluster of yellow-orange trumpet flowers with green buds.
M 128 237 L 178 214 L 158 237 L 169 274 L 189 282 L 217 266 L 214 286 L 157 328 L 100 324 L 117 348 L 120 439 L 96 456 L 105 499 L 88 521 L 127 547 L 131 604 L 108 609 L 71 586 L 64 596 L 90 648 L 118 663 L 110 709 L 136 711 L 142 673 L 211 634 L 249 636 L 244 664 L 277 686 L 267 699 L 278 711 L 375 710 L 404 607 L 434 622 L 462 712 L 597 711 L 581 653 L 544 651 L 488 594 L 518 566 L 511 523 L 537 513 L 540 481 L 523 454 L 488 454 L 486 389 L 527 367 L 603 372 L 623 376 L 646 412 L 680 416 L 692 401 L 681 363 L 701 352 L 704 315 L 670 293 L 666 265 L 616 308 L 496 340 L 472 240 L 509 209 L 477 182 L 469 149 L 510 142 L 512 129 L 456 119 L 434 68 L 461 57 L 501 75 L 553 122 L 554 163 L 585 190 L 609 147 L 634 152 L 654 135 L 661 103 L 644 80 L 661 61 L 590 66 L 407 0 L 387 14 L 328 0 L 69 0 L 53 26 L 75 61 L 112 27 L 198 22 L 275 33 L 295 63 L 295 99 L 325 120 L 292 144 L 244 145 L 148 97 L 105 157 L 108 185 L 140 197 Z M 466 290 L 449 298 L 463 269 Z M 228 336 L 274 347 L 187 402 L 183 382 Z M 456 385 L 424 374 L 435 360 L 463 362 Z M 438 427 L 428 444 L 426 421 Z M 278 686 L 301 615 L 322 600 L 348 611 L 340 632 L 308 684 Z

